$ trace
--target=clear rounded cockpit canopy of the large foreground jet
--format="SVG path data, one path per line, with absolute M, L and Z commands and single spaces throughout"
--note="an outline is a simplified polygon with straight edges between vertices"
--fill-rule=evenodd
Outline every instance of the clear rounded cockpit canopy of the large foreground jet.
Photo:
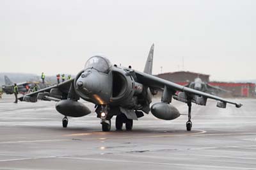
M 107 58 L 102 56 L 93 56 L 85 63 L 84 70 L 87 68 L 94 68 L 99 72 L 108 73 L 110 67 L 111 63 Z

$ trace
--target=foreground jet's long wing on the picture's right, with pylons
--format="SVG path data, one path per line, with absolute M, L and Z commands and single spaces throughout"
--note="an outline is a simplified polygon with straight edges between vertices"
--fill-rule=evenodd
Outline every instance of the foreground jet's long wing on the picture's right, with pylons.
M 237 104 L 235 102 L 225 100 L 224 98 L 217 97 L 209 93 L 204 93 L 202 91 L 197 91 L 195 89 L 187 88 L 185 86 L 181 86 L 174 82 L 166 81 L 164 79 L 155 77 L 153 75 L 149 75 L 147 73 L 142 73 L 137 71 L 135 73 L 136 73 L 138 82 L 140 82 L 141 84 L 144 84 L 145 86 L 148 86 L 149 88 L 154 88 L 154 89 L 168 88 L 169 91 L 172 91 L 170 95 L 173 95 L 173 98 L 175 98 L 176 100 L 179 100 L 180 102 L 188 102 L 188 100 L 191 100 L 191 102 L 195 102 L 196 104 L 205 105 L 207 98 L 211 98 L 211 99 L 220 101 L 217 104 L 218 107 L 225 108 L 227 103 L 234 104 L 236 105 L 236 107 L 242 106 L 242 104 Z M 181 91 L 182 93 L 179 93 L 180 95 L 179 94 L 175 95 L 177 91 Z

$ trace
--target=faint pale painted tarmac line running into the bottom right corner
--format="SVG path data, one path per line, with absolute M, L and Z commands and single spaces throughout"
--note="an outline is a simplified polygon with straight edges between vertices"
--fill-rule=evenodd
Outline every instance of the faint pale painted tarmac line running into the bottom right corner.
M 131 163 L 131 164 L 155 164 L 155 165 L 166 165 L 166 166 L 181 166 L 181 167 L 211 167 L 215 169 L 256 169 L 256 168 L 246 168 L 246 167 L 230 167 L 230 166 L 210 166 L 210 165 L 198 165 L 198 164 L 177 164 L 177 163 L 166 163 L 166 162 L 147 162 L 147 161 L 131 161 L 131 160 L 114 160 L 109 158 L 81 158 L 81 157 L 58 157 L 76 160 L 93 160 L 97 162 L 116 162 L 116 163 Z

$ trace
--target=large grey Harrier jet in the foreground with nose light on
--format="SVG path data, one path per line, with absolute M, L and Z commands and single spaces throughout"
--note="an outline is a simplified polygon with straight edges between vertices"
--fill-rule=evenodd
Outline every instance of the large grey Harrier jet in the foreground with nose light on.
M 67 127 L 68 118 L 81 117 L 90 114 L 90 109 L 78 100 L 81 98 L 95 104 L 97 118 L 100 118 L 103 131 L 111 128 L 111 118 L 116 116 L 116 130 L 132 129 L 133 120 L 138 120 L 150 111 L 154 116 L 163 120 L 173 120 L 180 112 L 172 104 L 172 98 L 188 104 L 188 121 L 186 128 L 191 130 L 191 104 L 206 105 L 207 98 L 218 100 L 217 107 L 225 108 L 227 103 L 241 107 L 241 104 L 216 97 L 209 93 L 197 91 L 175 84 L 152 75 L 154 44 L 148 54 L 144 72 L 111 65 L 103 56 L 93 56 L 88 59 L 83 70 L 76 78 L 56 84 L 49 88 L 40 89 L 19 98 L 26 102 L 39 100 L 56 101 L 56 110 L 65 117 L 63 127 Z M 153 104 L 152 95 L 163 91 L 161 101 Z M 176 91 L 180 91 L 176 95 Z

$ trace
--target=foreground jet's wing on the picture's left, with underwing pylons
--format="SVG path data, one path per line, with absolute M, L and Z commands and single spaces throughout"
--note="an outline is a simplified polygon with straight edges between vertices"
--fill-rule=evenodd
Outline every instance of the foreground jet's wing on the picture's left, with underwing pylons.
M 35 91 L 33 93 L 29 93 L 27 95 L 24 95 L 24 97 L 20 97 L 20 101 L 26 101 L 26 102 L 36 102 L 37 99 L 40 100 L 54 100 L 54 101 L 60 101 L 63 99 L 68 98 L 68 93 L 70 89 L 73 86 L 74 79 L 70 79 L 65 82 L 61 82 L 60 84 L 56 84 L 44 89 L 40 89 L 38 91 Z

